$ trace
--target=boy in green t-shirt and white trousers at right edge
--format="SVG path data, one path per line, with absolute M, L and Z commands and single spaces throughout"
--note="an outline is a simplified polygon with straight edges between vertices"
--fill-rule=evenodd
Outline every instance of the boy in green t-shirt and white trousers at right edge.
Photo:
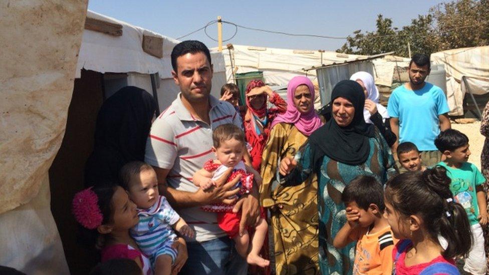
M 441 132 L 435 139 L 435 145 L 445 156 L 445 160 L 437 165 L 446 169 L 446 175 L 451 179 L 450 190 L 456 202 L 467 211 L 468 220 L 472 226 L 474 243 L 463 269 L 472 274 L 485 274 L 486 263 L 484 252 L 484 237 L 482 226 L 487 226 L 487 204 L 482 183 L 484 176 L 472 163 L 467 162 L 470 156 L 468 137 L 454 129 Z M 447 211 L 447 215 L 449 215 Z

